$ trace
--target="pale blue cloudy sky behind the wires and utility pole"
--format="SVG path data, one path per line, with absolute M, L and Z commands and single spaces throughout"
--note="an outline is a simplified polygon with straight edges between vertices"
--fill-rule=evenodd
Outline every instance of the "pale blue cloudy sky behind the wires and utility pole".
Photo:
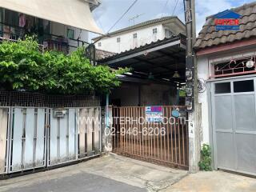
M 138 0 L 133 8 L 122 18 L 120 22 L 110 30 L 110 27 L 122 16 L 134 0 L 101 0 L 102 4 L 94 10 L 94 19 L 104 33 L 122 29 L 126 26 L 132 26 L 140 22 L 145 22 L 162 16 L 176 15 L 184 22 L 183 0 L 178 0 L 176 9 L 174 9 L 177 0 Z M 196 1 L 196 26 L 197 32 L 202 29 L 206 16 L 217 14 L 222 10 L 232 7 L 242 6 L 245 3 L 255 0 L 195 0 Z M 130 18 L 141 15 L 134 22 Z M 109 31 L 110 30 L 110 31 Z M 90 38 L 98 36 L 90 34 Z

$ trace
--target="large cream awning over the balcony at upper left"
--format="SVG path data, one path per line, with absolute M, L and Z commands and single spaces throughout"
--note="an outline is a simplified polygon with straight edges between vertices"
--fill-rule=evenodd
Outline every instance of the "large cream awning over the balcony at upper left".
M 103 34 L 85 0 L 0 0 L 0 7 Z

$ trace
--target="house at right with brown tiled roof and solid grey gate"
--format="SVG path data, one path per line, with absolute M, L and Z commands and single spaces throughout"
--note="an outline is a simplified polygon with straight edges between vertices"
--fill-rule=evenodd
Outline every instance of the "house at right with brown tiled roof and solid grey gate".
M 206 18 L 194 46 L 201 82 L 202 143 L 210 143 L 215 169 L 252 175 L 256 175 L 255 10 L 256 2 L 231 10 L 241 15 L 239 30 L 216 30 L 216 16 Z M 227 12 L 218 15 L 227 18 Z

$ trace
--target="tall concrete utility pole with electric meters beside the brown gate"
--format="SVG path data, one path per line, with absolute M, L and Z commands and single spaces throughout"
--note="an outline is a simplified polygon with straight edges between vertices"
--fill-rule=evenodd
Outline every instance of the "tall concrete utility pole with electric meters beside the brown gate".
M 200 107 L 198 106 L 198 66 L 194 53 L 196 41 L 195 0 L 183 0 L 186 22 L 186 106 L 189 116 L 189 170 L 198 171 L 200 161 Z

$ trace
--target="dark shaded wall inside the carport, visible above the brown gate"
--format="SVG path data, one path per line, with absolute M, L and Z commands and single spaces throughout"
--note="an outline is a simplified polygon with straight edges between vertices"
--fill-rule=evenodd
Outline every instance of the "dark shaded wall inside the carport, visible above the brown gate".
M 174 86 L 154 83 L 147 85 L 122 84 L 120 88 L 110 94 L 110 103 L 113 99 L 121 99 L 121 106 L 139 106 L 139 104 L 140 106 L 167 106 L 176 102 L 176 94 L 177 90 Z

